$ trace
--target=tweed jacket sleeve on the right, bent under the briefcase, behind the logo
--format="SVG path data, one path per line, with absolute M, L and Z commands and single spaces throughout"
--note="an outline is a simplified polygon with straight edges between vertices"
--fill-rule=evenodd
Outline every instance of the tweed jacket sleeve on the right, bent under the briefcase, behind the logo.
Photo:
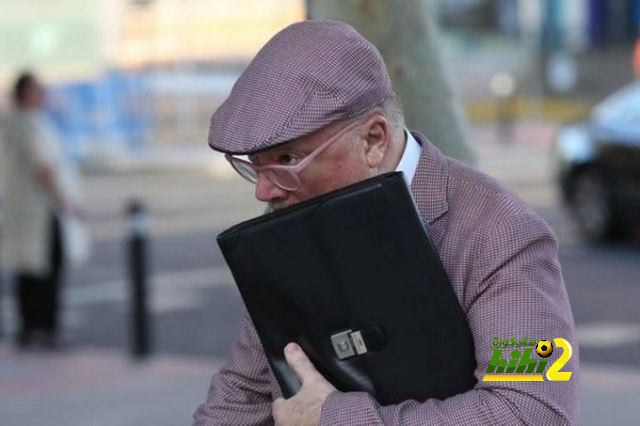
M 474 389 L 446 400 L 405 401 L 382 407 L 366 393 L 332 393 L 320 425 L 515 425 L 578 423 L 578 353 L 568 296 L 549 227 L 520 213 L 476 233 L 465 247 L 464 296 L 478 362 Z M 460 265 L 460 267 L 467 267 Z M 490 343 L 516 337 L 564 338 L 573 355 L 561 371 L 569 381 L 483 382 L 493 354 Z M 503 351 L 503 359 L 510 352 Z M 556 348 L 546 370 L 562 353 Z M 535 355 L 535 351 L 533 352 Z M 536 356 L 537 358 L 537 356 Z

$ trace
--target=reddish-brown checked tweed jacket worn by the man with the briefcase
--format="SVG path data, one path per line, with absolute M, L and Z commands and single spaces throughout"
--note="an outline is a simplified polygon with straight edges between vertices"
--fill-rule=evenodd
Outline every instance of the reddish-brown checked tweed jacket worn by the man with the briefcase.
M 577 342 L 553 232 L 494 179 L 414 136 L 423 149 L 411 191 L 469 322 L 478 382 L 446 400 L 385 407 L 366 393 L 335 391 L 322 407 L 319 424 L 577 424 Z M 573 356 L 562 371 L 573 372 L 570 380 L 482 381 L 493 355 L 491 342 L 513 337 L 569 341 Z M 502 358 L 509 359 L 510 351 Z M 547 365 L 561 353 L 554 351 Z M 230 359 L 213 376 L 194 424 L 270 425 L 271 404 L 280 396 L 245 312 Z

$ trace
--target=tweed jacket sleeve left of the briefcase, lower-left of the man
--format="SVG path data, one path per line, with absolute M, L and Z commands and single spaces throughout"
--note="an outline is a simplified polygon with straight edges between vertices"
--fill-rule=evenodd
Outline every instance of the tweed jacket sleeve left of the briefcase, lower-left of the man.
M 273 425 L 271 370 L 249 315 L 242 315 L 229 360 L 213 376 L 194 426 Z

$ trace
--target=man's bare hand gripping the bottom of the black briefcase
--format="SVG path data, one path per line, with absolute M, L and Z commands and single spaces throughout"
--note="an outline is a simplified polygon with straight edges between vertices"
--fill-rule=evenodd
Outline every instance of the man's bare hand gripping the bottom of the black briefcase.
M 276 426 L 317 426 L 322 404 L 335 388 L 318 373 L 297 344 L 289 343 L 284 356 L 302 388 L 291 398 L 278 398 L 273 403 Z

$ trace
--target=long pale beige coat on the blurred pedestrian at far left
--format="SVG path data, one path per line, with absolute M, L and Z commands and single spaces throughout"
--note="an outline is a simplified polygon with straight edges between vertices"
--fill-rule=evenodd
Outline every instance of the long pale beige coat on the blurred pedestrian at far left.
M 79 202 L 77 172 L 65 159 L 58 134 L 38 111 L 15 111 L 2 127 L 2 266 L 34 275 L 48 273 L 52 214 L 61 221 L 66 260 L 78 261 L 87 254 L 85 230 L 55 204 L 37 176 L 39 168 L 50 168 L 65 199 Z

